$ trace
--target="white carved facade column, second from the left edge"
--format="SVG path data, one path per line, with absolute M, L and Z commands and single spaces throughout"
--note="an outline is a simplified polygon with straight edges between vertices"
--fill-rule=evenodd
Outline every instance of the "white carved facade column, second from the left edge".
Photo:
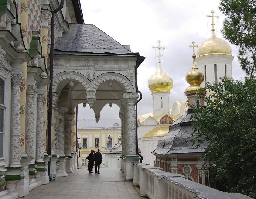
M 28 156 L 32 157 L 30 164 L 34 164 L 35 158 L 35 123 L 34 123 L 34 111 L 35 111 L 35 85 L 27 86 L 27 133 L 25 137 L 25 150 Z

